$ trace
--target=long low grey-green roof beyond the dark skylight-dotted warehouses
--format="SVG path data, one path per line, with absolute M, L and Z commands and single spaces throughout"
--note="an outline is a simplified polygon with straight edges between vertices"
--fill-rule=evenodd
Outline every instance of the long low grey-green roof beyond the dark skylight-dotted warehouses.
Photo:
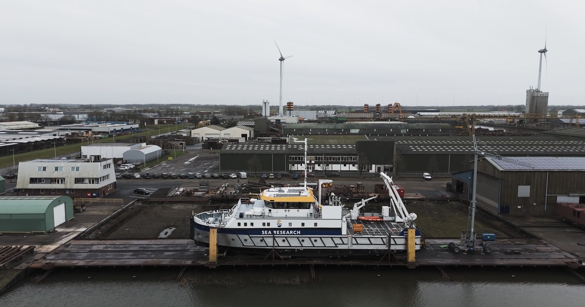
M 453 129 L 448 123 L 287 123 L 283 129 Z

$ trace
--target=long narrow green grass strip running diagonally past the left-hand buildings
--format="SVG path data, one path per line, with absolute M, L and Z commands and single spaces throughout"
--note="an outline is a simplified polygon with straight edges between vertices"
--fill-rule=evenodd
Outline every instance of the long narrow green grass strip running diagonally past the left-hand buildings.
M 135 134 L 127 134 L 124 136 L 117 136 L 117 137 L 109 137 L 108 139 L 99 139 L 94 140 L 95 143 L 103 143 L 103 142 L 114 142 L 115 139 L 128 139 L 132 136 L 143 136 L 143 135 L 156 135 L 161 133 L 173 132 L 175 131 L 175 127 L 177 129 L 181 129 L 181 125 L 152 125 L 148 126 L 149 131 L 143 131 Z M 15 154 L 14 156 L 5 156 L 0 157 L 0 168 L 11 167 L 12 166 L 12 157 L 14 157 L 14 163 L 18 164 L 20 161 L 28 161 L 37 158 L 54 158 L 55 155 L 62 156 L 64 154 L 76 153 L 81 151 L 81 146 L 86 145 L 87 143 L 77 143 L 71 144 L 66 146 L 59 146 L 56 148 L 49 148 L 43 150 L 36 150 L 30 151 L 29 153 L 20 153 Z

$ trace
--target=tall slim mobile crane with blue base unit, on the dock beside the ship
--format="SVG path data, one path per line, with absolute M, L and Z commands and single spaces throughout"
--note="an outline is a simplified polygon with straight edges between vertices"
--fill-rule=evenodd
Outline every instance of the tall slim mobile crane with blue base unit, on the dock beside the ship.
M 459 253 L 459 251 L 480 251 L 481 253 L 490 253 L 491 247 L 488 245 L 495 241 L 495 234 L 491 233 L 484 233 L 481 236 L 481 243 L 479 246 L 476 245 L 476 233 L 475 233 L 475 211 L 476 211 L 476 187 L 477 187 L 477 156 L 481 155 L 484 157 L 491 157 L 496 158 L 498 160 L 507 161 L 510 163 L 515 163 L 519 165 L 524 165 L 526 167 L 534 168 L 534 165 L 524 163 L 522 161 L 514 160 L 511 158 L 502 157 L 499 154 L 491 154 L 486 153 L 485 151 L 481 151 L 477 148 L 477 141 L 476 136 L 473 135 L 473 151 L 474 151 L 474 160 L 473 160 L 473 189 L 472 189 L 472 202 L 471 202 L 471 216 L 467 222 L 467 229 L 462 231 L 461 235 L 461 242 L 460 243 L 449 243 L 449 248 L 453 250 L 455 253 Z M 471 227 L 469 227 L 471 224 Z

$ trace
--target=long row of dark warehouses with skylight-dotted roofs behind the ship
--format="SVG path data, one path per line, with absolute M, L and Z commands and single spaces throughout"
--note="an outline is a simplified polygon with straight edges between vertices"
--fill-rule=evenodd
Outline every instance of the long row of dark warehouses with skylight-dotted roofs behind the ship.
M 556 132 L 560 133 L 560 132 Z M 577 133 L 578 134 L 578 133 Z M 585 156 L 585 137 L 560 139 L 553 133 L 541 137 L 480 137 L 480 150 L 511 157 Z M 585 135 L 584 135 L 585 136 Z M 309 164 L 297 163 L 300 156 L 293 138 L 309 139 Z M 432 173 L 449 176 L 469 170 L 473 160 L 473 139 L 469 136 L 367 136 L 291 135 L 288 144 L 225 144 L 219 153 L 221 171 L 251 170 L 250 160 L 257 157 L 258 171 L 278 172 L 309 170 L 387 171 L 395 175 Z M 321 157 L 325 158 L 321 158 Z M 331 157 L 331 158 L 329 158 Z M 335 157 L 335 158 L 333 158 Z M 326 159 L 326 160 L 321 160 Z M 333 160 L 327 160 L 333 159 Z M 331 163 L 324 163 L 331 162 Z M 351 163 L 349 163 L 351 162 Z

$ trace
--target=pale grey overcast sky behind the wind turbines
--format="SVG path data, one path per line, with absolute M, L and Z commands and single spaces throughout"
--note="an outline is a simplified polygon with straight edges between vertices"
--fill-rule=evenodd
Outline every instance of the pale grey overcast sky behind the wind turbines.
M 580 1 L 0 0 L 0 104 L 585 104 Z M 355 104 L 354 104 L 355 101 Z M 435 103 L 436 101 L 436 103 Z M 283 103 L 284 104 L 284 103 Z

